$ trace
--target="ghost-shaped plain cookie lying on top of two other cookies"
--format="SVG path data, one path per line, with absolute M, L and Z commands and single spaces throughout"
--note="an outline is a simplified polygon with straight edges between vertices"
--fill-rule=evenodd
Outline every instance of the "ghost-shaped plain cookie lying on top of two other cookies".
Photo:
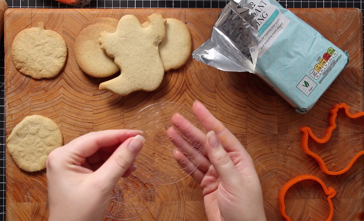
M 154 13 L 148 16 L 148 23 L 143 28 L 137 17 L 125 15 L 114 33 L 100 34 L 101 48 L 114 58 L 121 73 L 101 83 L 99 89 L 124 96 L 134 91 L 154 91 L 162 83 L 164 67 L 158 45 L 166 35 L 166 19 Z

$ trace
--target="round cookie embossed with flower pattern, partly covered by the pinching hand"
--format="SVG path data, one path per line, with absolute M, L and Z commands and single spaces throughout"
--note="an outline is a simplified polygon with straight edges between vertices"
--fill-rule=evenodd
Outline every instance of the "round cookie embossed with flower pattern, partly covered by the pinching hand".
M 15 126 L 6 144 L 16 165 L 34 172 L 46 168 L 48 154 L 63 145 L 63 138 L 58 125 L 50 118 L 32 115 Z

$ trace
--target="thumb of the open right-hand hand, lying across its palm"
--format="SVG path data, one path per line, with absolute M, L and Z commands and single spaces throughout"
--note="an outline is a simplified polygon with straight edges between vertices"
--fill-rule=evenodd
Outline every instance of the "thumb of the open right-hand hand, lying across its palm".
M 206 136 L 207 148 L 206 152 L 209 156 L 210 162 L 218 173 L 221 182 L 225 184 L 232 184 L 239 177 L 239 172 L 226 150 L 220 144 L 215 132 L 211 130 Z

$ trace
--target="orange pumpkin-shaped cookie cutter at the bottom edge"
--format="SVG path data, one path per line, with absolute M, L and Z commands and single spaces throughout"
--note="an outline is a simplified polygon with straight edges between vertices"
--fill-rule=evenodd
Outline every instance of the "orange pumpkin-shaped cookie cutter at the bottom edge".
M 296 184 L 297 182 L 300 182 L 302 180 L 315 180 L 322 186 L 325 194 L 327 195 L 327 201 L 328 201 L 329 207 L 330 207 L 329 216 L 327 217 L 326 220 L 330 221 L 334 214 L 334 206 L 332 204 L 331 198 L 333 198 L 336 195 L 336 191 L 332 187 L 326 187 L 324 182 L 322 180 L 320 180 L 318 177 L 309 175 L 309 174 L 304 174 L 304 175 L 294 177 L 283 185 L 281 191 L 279 192 L 279 196 L 278 196 L 278 202 L 280 204 L 279 210 L 280 210 L 281 215 L 286 219 L 286 221 L 291 220 L 291 218 L 286 214 L 286 205 L 284 204 L 284 196 L 285 196 L 287 190 L 291 186 L 293 186 L 294 184 Z

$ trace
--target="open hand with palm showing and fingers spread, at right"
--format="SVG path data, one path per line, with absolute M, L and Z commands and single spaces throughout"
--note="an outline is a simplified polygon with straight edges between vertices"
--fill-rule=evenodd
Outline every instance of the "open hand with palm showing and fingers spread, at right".
M 209 132 L 203 133 L 180 114 L 174 114 L 167 135 L 178 148 L 173 157 L 202 188 L 207 218 L 265 220 L 262 189 L 249 153 L 200 102 L 195 102 L 192 109 Z M 199 153 L 191 143 L 200 144 L 202 153 L 206 153 Z

